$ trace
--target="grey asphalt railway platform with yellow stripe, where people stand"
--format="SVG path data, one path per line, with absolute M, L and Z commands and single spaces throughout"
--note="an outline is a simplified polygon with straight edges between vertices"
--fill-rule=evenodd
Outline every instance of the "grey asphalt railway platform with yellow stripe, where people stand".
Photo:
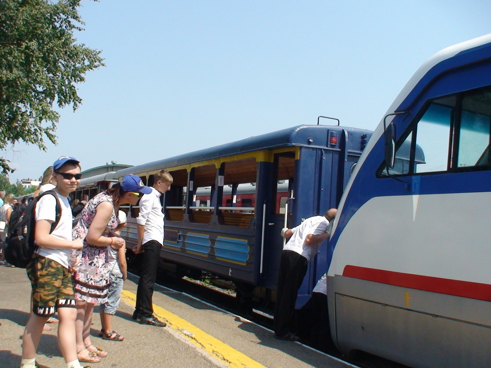
M 109 352 L 92 368 L 344 368 L 355 367 L 297 342 L 276 340 L 273 332 L 240 316 L 220 310 L 185 293 L 156 286 L 154 311 L 167 327 L 140 325 L 132 320 L 136 277 L 124 285 L 113 320 L 123 342 L 102 340 L 100 318 L 94 315 L 92 342 Z M 26 271 L 0 267 L 0 368 L 20 366 L 20 336 L 29 315 L 30 285 Z M 64 368 L 58 349 L 57 325 L 43 333 L 36 356 L 40 368 Z

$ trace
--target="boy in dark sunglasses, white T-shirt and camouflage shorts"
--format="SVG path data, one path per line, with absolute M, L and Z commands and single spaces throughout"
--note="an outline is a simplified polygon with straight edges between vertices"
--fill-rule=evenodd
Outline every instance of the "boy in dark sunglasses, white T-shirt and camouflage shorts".
M 59 317 L 58 343 L 66 365 L 68 368 L 82 368 L 77 358 L 77 309 L 72 276 L 68 271 L 72 250 L 82 249 L 83 245 L 81 239 L 72 240 L 72 211 L 68 202 L 68 196 L 77 188 L 82 174 L 79 161 L 73 157 L 60 157 L 53 167 L 55 193 L 41 197 L 34 212 L 37 249 L 27 265 L 33 308 L 22 338 L 22 368 L 35 367 L 43 326 L 56 311 Z M 57 213 L 57 207 L 61 213 Z

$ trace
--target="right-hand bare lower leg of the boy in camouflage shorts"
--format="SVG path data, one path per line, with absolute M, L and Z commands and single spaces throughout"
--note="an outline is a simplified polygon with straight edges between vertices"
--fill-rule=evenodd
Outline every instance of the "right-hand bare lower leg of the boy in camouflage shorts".
M 77 360 L 76 308 L 58 308 L 58 344 L 65 362 Z

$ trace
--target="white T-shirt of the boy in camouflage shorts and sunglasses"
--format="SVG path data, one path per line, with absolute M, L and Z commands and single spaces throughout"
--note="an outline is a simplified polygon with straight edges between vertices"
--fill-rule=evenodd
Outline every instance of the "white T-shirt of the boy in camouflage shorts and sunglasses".
M 67 197 L 63 197 L 61 194 L 56 193 L 60 201 L 58 203 L 61 207 L 61 216 L 58 225 L 51 233 L 52 236 L 63 240 L 72 240 L 72 209 Z M 36 221 L 38 220 L 50 220 L 56 219 L 56 199 L 50 194 L 43 196 L 38 203 L 36 203 Z M 40 256 L 49 258 L 56 261 L 63 267 L 68 268 L 68 260 L 72 254 L 72 249 L 49 249 L 39 247 L 36 251 Z

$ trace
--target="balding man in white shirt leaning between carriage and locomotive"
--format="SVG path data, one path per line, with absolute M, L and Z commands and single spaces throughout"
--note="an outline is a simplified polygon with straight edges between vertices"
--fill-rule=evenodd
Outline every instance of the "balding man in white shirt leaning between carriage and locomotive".
M 324 216 L 312 216 L 293 229 L 281 230 L 282 237 L 290 240 L 283 247 L 276 284 L 274 307 L 274 334 L 281 340 L 300 341 L 290 331 L 292 313 L 297 294 L 302 284 L 308 263 L 311 262 L 322 242 L 330 236 L 329 221 L 336 215 L 336 209 L 328 210 Z

